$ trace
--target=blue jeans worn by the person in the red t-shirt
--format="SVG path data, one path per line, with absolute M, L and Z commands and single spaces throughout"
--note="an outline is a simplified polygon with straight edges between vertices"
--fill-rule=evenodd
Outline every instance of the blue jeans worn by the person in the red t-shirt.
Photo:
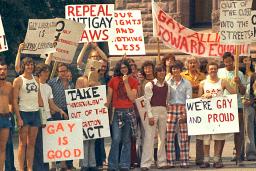
M 118 110 L 118 109 L 116 109 Z M 128 111 L 127 111 L 128 113 Z M 118 170 L 120 168 L 130 168 L 131 163 L 131 124 L 127 113 L 122 115 L 123 125 L 119 128 L 118 115 L 115 112 L 112 122 L 112 143 L 108 157 L 109 169 Z M 119 118 L 120 119 L 120 118 Z M 119 144 L 122 143 L 119 162 Z

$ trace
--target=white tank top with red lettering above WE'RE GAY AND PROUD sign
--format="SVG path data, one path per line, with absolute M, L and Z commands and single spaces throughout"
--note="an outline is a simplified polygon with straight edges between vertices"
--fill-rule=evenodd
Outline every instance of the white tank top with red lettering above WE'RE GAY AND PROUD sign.
M 223 96 L 221 82 L 222 79 L 219 79 L 219 81 L 216 83 L 212 83 L 206 79 L 204 82 L 204 93 L 211 93 L 213 97 Z

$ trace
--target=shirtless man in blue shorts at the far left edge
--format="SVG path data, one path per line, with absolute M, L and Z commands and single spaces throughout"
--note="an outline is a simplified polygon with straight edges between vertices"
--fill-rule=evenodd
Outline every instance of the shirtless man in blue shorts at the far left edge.
M 6 143 L 11 124 L 10 106 L 12 100 L 12 84 L 6 81 L 7 64 L 0 61 L 0 171 L 4 170 Z

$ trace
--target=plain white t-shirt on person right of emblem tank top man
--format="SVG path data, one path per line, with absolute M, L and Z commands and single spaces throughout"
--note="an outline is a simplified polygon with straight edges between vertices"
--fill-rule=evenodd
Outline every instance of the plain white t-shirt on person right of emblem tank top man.
M 40 83 L 40 92 L 44 102 L 44 117 L 51 118 L 49 99 L 53 99 L 52 88 L 47 83 Z

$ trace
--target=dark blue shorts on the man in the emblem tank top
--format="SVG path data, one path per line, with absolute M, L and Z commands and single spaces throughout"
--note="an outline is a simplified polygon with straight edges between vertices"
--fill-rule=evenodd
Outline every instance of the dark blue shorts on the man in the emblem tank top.
M 41 119 L 39 111 L 35 112 L 23 112 L 20 111 L 20 117 L 23 120 L 23 125 L 29 125 L 32 127 L 40 127 L 41 126 Z

